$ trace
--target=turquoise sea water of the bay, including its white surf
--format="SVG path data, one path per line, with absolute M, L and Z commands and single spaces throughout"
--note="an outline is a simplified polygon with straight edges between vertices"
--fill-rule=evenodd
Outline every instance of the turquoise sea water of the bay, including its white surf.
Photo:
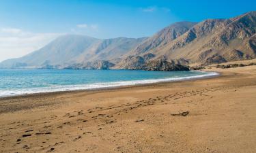
M 85 90 L 199 78 L 199 71 L 0 69 L 0 97 L 38 92 Z

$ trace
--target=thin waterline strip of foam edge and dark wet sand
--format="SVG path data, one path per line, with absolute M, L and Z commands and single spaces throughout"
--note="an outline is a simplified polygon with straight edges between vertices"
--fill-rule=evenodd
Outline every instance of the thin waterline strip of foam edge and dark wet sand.
M 197 70 L 196 70 L 197 71 Z M 72 93 L 72 92 L 86 92 L 86 91 L 101 91 L 101 90 L 115 90 L 115 89 L 122 89 L 122 88 L 136 88 L 141 86 L 155 86 L 157 84 L 165 84 L 165 83 L 171 83 L 171 82 L 185 82 L 189 80 L 205 80 L 208 78 L 217 78 L 221 76 L 221 73 L 216 71 L 201 71 L 202 73 L 213 73 L 212 75 L 206 74 L 204 76 L 201 75 L 195 75 L 190 77 L 185 77 L 182 79 L 177 78 L 177 80 L 171 80 L 173 78 L 165 78 L 165 79 L 155 79 L 156 82 L 147 82 L 147 83 L 138 83 L 138 84 L 130 84 L 130 85 L 119 85 L 119 86 L 106 86 L 106 87 L 100 87 L 100 88 L 87 88 L 87 89 L 74 89 L 74 90 L 59 90 L 59 91 L 46 91 L 46 92 L 34 92 L 34 93 L 25 93 L 20 95 L 7 95 L 7 96 L 0 96 L 1 99 L 15 99 L 15 98 L 21 98 L 21 97 L 33 97 L 33 96 L 40 96 L 40 95 L 59 95 L 59 94 L 65 94 L 65 93 Z M 163 81 L 157 81 L 157 80 L 163 80 Z M 135 80 L 135 81 L 148 81 L 148 80 Z M 83 86 L 83 85 L 79 85 Z

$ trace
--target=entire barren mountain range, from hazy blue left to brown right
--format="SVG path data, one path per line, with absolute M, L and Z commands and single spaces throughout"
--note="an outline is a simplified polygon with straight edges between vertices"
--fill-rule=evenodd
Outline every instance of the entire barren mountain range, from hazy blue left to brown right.
M 3 61 L 0 67 L 180 70 L 182 65 L 256 58 L 255 32 L 256 12 L 248 12 L 229 19 L 175 22 L 152 37 L 138 39 L 63 35 L 31 54 Z

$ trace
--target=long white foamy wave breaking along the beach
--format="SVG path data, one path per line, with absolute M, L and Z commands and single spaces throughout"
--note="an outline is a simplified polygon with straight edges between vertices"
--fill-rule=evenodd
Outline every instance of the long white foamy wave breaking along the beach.
M 15 95 L 28 95 L 35 93 L 44 93 L 44 92 L 61 92 L 61 91 L 72 91 L 72 90 L 90 90 L 90 89 L 99 89 L 99 88 L 112 88 L 118 86 L 132 86 L 138 84 L 154 84 L 158 82 L 174 82 L 180 80 L 191 80 L 195 78 L 205 78 L 211 77 L 214 75 L 219 75 L 216 72 L 204 72 L 200 71 L 201 75 L 193 76 L 184 76 L 177 78 L 162 78 L 162 79 L 150 79 L 150 80 L 132 80 L 132 81 L 119 81 L 119 82 L 102 82 L 94 84 L 79 84 L 79 85 L 63 85 L 63 86 L 49 86 L 42 88 L 26 88 L 20 90 L 0 90 L 0 97 L 10 97 Z

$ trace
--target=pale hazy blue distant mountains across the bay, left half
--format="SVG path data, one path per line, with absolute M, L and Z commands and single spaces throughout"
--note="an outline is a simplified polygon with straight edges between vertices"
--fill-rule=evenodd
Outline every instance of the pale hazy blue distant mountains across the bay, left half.
M 95 61 L 122 58 L 126 52 L 138 46 L 146 38 L 96 39 L 84 35 L 63 35 L 31 54 L 3 61 L 0 67 L 57 69 L 82 65 L 82 63 L 89 67 L 89 64 Z

